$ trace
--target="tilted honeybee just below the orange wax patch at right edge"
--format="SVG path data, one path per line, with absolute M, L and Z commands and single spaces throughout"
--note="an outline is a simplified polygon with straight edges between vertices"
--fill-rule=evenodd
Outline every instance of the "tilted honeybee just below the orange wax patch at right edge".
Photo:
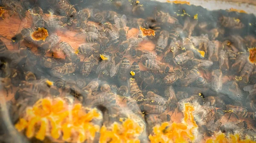
M 254 66 L 250 62 L 247 62 L 244 65 L 243 70 L 241 70 L 240 76 L 242 77 L 242 81 L 239 84 L 247 84 L 249 82 L 249 78 L 251 73 L 253 72 Z

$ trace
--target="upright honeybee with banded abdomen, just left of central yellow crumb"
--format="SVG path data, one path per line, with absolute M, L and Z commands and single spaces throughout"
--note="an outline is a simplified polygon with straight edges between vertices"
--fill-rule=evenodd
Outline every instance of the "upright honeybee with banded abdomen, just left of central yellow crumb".
M 127 58 L 123 58 L 119 68 L 119 78 L 121 80 L 124 81 L 127 79 L 130 67 L 130 61 Z

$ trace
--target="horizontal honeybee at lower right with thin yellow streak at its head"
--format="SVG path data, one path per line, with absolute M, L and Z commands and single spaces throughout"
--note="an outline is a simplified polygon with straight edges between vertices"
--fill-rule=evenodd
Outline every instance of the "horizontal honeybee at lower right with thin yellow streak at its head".
M 239 120 L 239 117 L 247 118 L 248 110 L 246 108 L 247 107 L 234 106 L 234 105 L 229 105 L 229 104 L 226 105 L 226 108 L 224 108 L 225 111 L 231 110 L 231 113 L 230 113 L 227 121 L 229 121 L 232 114 L 234 114 L 238 120 Z

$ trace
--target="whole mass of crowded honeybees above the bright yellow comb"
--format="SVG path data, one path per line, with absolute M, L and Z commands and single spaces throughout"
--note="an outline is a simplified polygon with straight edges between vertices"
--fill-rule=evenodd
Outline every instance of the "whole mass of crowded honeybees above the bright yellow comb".
M 100 1 L 84 8 L 83 1 L 47 0 L 46 14 L 36 0 L 2 0 L 3 8 L 21 21 L 9 39 L 18 50 L 6 48 L 0 39 L 1 87 L 6 96 L 14 93 L 7 102 L 11 122 L 17 123 L 39 99 L 61 97 L 98 108 L 105 126 L 136 118 L 146 127 L 140 140 L 150 142 L 153 127 L 172 122 L 190 102 L 202 137 L 219 131 L 255 137 L 255 17 L 253 24 L 239 20 L 247 15 L 239 13 L 212 16 L 209 22 L 143 2 Z M 32 26 L 22 27 L 27 20 Z M 49 32 L 45 40 L 32 36 L 39 28 Z M 134 28 L 140 32 L 127 36 Z M 58 31 L 63 29 L 76 31 L 74 37 L 83 40 L 77 50 L 61 40 Z M 146 42 L 155 47 L 145 47 Z M 55 57 L 56 51 L 65 59 Z

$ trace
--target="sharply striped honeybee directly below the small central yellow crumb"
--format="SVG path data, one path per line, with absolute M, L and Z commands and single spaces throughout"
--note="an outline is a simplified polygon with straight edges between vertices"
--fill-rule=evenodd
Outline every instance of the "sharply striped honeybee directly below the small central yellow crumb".
M 131 98 L 133 98 L 138 103 L 143 102 L 144 95 L 142 94 L 136 80 L 129 80 L 129 86 Z

